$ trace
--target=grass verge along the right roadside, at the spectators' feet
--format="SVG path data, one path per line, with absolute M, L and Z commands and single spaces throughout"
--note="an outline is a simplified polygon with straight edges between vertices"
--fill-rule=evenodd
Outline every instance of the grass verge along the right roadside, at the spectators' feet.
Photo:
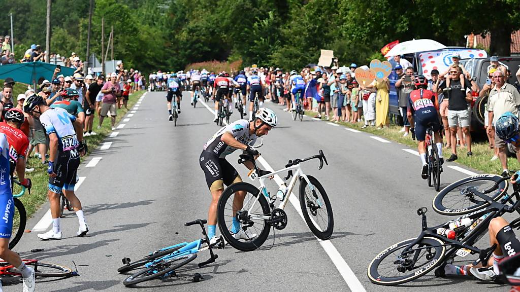
M 305 115 L 314 117 L 317 112 L 306 112 Z M 399 130 L 402 127 L 399 126 L 390 126 L 388 128 L 384 128 L 382 130 L 376 129 L 375 127 L 367 127 L 362 128 L 363 123 L 338 123 L 345 127 L 353 128 L 356 130 L 369 132 L 370 134 L 374 134 L 380 137 L 387 138 L 394 142 L 398 142 L 400 144 L 407 145 L 412 149 L 417 149 L 417 141 L 412 140 L 411 135 L 407 137 L 403 137 L 402 133 Z M 446 141 L 444 141 L 446 142 Z M 488 141 L 484 142 L 473 142 L 471 145 L 471 152 L 473 152 L 473 156 L 469 157 L 466 155 L 467 149 L 464 147 L 457 147 L 457 156 L 459 157 L 456 161 L 459 164 L 464 166 L 473 168 L 478 171 L 482 171 L 484 173 L 490 174 L 501 174 L 502 166 L 500 164 L 500 160 L 491 161 L 491 157 L 493 157 L 493 150 L 489 149 Z M 443 149 L 443 156 L 445 158 L 451 155 L 450 149 Z M 419 158 L 417 158 L 419 160 Z M 515 157 L 508 158 L 508 168 L 509 169 L 520 169 L 520 163 Z

